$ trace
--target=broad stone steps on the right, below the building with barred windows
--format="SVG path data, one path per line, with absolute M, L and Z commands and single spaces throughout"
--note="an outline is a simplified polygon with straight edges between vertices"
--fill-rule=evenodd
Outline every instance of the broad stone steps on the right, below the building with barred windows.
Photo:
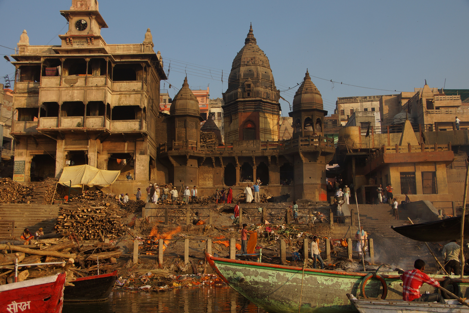
M 395 220 L 393 209 L 388 204 L 358 205 L 358 207 L 361 225 L 370 234 L 369 237 L 373 238 L 375 260 L 407 270 L 413 268 L 416 259 L 422 259 L 428 264 L 428 270 L 436 271 L 435 260 L 424 243 L 404 237 L 391 229 L 391 226 L 409 224 L 405 209 L 399 208 L 400 220 Z M 356 206 L 353 208 L 356 211 Z M 414 221 L 414 223 L 423 222 L 425 221 Z M 357 212 L 355 212 L 355 223 L 358 226 Z M 438 251 L 439 244 L 430 244 L 430 246 L 437 258 L 441 259 Z

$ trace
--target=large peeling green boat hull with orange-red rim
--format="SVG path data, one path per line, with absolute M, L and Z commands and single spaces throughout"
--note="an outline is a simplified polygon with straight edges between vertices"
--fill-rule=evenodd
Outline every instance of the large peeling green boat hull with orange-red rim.
M 303 276 L 302 267 L 215 258 L 208 253 L 205 257 L 230 287 L 269 313 L 298 313 L 300 294 L 302 313 L 356 312 L 346 294 L 360 295 L 363 277 L 368 274 L 306 268 Z M 381 276 L 388 285 L 387 299 L 402 299 L 400 275 Z M 432 277 L 444 280 L 443 275 Z M 460 283 L 462 294 L 468 285 L 468 280 Z M 371 279 L 366 284 L 366 295 L 380 297 L 380 289 L 381 283 Z M 435 292 L 429 285 L 421 288 L 422 292 L 427 290 Z

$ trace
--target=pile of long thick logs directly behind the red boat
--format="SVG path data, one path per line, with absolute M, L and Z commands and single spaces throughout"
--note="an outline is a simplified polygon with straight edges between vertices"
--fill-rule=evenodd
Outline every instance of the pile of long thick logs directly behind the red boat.
M 61 264 L 18 267 L 18 282 L 30 278 L 67 273 L 67 282 L 77 277 L 110 273 L 117 269 L 122 252 L 113 244 L 81 245 L 68 238 L 31 240 L 29 245 L 0 244 L 0 285 L 15 281 L 18 264 L 63 262 Z M 98 265 L 99 263 L 99 265 Z

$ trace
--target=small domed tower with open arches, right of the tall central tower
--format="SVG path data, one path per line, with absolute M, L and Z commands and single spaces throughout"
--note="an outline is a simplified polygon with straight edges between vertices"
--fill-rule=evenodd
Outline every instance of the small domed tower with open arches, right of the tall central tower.
M 293 118 L 293 137 L 323 135 L 324 115 L 321 93 L 311 81 L 310 73 L 306 69 L 303 83 L 295 93 L 293 111 L 289 112 Z

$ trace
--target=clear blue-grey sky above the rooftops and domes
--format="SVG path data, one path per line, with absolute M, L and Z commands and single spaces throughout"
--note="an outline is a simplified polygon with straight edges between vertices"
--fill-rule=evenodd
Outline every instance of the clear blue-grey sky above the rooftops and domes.
M 68 25 L 59 11 L 70 6 L 71 0 L 0 0 L 0 54 L 14 53 L 24 29 L 30 45 L 60 45 Z M 328 114 L 338 97 L 413 92 L 425 79 L 431 88 L 469 89 L 469 0 L 100 0 L 99 12 L 108 44 L 141 43 L 151 29 L 168 76 L 161 89 L 181 88 L 187 73 L 192 88 L 210 86 L 210 98 L 221 98 L 250 23 L 289 103 L 306 69 Z M 0 83 L 14 72 L 1 58 Z M 176 88 L 168 89 L 170 97 Z M 288 103 L 280 104 L 287 116 Z

